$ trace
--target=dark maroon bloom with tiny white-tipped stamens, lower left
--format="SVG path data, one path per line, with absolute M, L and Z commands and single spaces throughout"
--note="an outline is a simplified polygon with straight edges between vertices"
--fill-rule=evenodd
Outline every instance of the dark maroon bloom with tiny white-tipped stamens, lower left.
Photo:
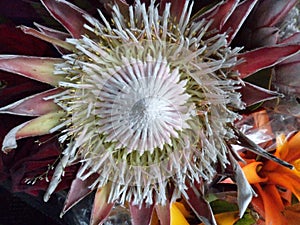
M 42 137 L 38 141 L 32 139 L 24 141 L 21 149 L 12 153 L 13 158 L 6 160 L 10 161 L 12 190 L 32 195 L 38 195 L 39 191 L 44 191 L 53 176 L 60 154 L 59 144 L 51 136 Z M 57 191 L 70 186 L 76 170 L 76 166 L 66 170 Z

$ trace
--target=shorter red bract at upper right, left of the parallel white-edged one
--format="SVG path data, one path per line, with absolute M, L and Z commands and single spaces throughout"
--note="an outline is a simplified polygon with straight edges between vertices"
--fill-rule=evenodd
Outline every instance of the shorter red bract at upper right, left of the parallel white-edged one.
M 210 30 L 217 29 L 218 31 L 222 30 L 223 25 L 226 23 L 228 18 L 234 12 L 238 5 L 239 0 L 227 0 L 224 3 L 217 4 L 211 10 L 202 14 L 196 20 L 205 18 L 206 20 L 213 20 L 213 23 L 210 26 Z

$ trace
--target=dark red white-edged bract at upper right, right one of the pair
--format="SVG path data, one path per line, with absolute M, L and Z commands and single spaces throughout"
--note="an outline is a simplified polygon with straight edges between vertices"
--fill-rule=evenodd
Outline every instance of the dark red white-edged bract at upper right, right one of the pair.
M 221 32 L 227 32 L 228 43 L 231 43 L 237 32 L 240 30 L 257 1 L 258 0 L 246 0 L 242 2 L 237 6 L 237 8 L 230 15 L 229 19 L 225 22 Z

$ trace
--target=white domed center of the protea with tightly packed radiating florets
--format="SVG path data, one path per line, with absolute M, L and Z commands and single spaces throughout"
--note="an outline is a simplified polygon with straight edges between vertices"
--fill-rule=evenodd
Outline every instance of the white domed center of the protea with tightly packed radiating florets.
M 140 154 L 171 145 L 185 123 L 189 98 L 186 82 L 179 80 L 178 70 L 171 72 L 166 60 L 150 56 L 147 62 L 132 60 L 117 70 L 98 96 L 100 132 L 106 141 Z

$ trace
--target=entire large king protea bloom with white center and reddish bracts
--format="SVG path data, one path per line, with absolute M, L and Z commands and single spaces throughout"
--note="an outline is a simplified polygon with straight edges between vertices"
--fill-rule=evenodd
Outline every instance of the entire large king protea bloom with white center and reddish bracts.
M 64 0 L 41 2 L 68 33 L 39 24 L 21 29 L 52 43 L 62 57 L 2 55 L 0 68 L 53 88 L 0 112 L 34 117 L 5 136 L 5 153 L 22 138 L 58 137 L 61 157 L 45 201 L 65 169 L 79 163 L 63 213 L 96 190 L 91 224 L 102 223 L 114 203 L 127 202 L 134 224 L 149 224 L 153 210 L 168 224 L 170 204 L 180 197 L 205 224 L 216 224 L 204 187 L 216 168 L 230 167 L 243 215 L 253 191 L 230 143 L 276 158 L 234 122 L 239 110 L 278 95 L 242 79 L 300 46 L 230 47 L 255 0 L 220 2 L 195 16 L 188 0 L 105 1 L 107 12 L 97 18 Z

